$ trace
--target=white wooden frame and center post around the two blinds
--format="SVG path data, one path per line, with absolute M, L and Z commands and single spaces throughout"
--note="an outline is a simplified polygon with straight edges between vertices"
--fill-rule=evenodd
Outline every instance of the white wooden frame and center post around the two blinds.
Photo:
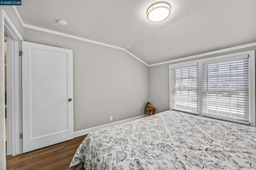
M 203 63 L 210 61 L 224 61 L 227 59 L 236 59 L 239 56 L 249 56 L 249 114 L 250 114 L 250 126 L 256 127 L 256 84 L 255 84 L 255 50 L 243 51 L 239 53 L 232 53 L 228 55 L 220 55 L 216 57 L 208 57 L 205 59 L 198 59 L 178 64 L 170 64 L 169 65 L 169 101 L 170 101 L 170 110 L 172 108 L 172 93 L 171 93 L 171 68 L 178 68 L 183 66 L 193 65 L 198 63 L 198 109 L 199 116 L 204 117 L 203 115 Z M 217 118 L 218 119 L 218 118 Z M 225 121 L 225 120 L 223 120 Z

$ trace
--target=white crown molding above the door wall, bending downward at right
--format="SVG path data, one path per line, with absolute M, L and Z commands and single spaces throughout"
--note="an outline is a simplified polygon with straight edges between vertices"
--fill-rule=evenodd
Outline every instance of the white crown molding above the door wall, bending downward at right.
M 128 53 L 129 55 L 131 55 L 132 57 L 134 57 L 135 59 L 137 59 L 141 63 L 143 63 L 146 66 L 148 66 L 147 63 L 145 63 L 144 61 L 142 61 L 141 59 L 136 57 L 134 54 L 130 53 L 130 51 L 128 51 L 128 50 L 126 50 L 124 48 L 121 48 L 121 47 L 118 47 L 118 46 L 115 46 L 115 45 L 110 45 L 110 44 L 102 43 L 102 42 L 99 42 L 99 41 L 94 41 L 94 40 L 91 40 L 91 39 L 86 39 L 86 38 L 82 38 L 82 37 L 66 34 L 66 33 L 61 33 L 61 32 L 58 32 L 58 31 L 53 31 L 53 30 L 50 30 L 50 29 L 45 29 L 45 28 L 42 28 L 42 27 L 36 27 L 34 25 L 26 24 L 26 23 L 23 22 L 22 18 L 20 17 L 20 14 L 19 14 L 16 6 L 12 6 L 12 7 L 13 7 L 16 15 L 18 16 L 18 18 L 20 20 L 20 23 L 22 24 L 23 27 L 30 28 L 30 29 L 35 29 L 35 30 L 43 31 L 43 32 L 47 32 L 47 33 L 52 33 L 52 34 L 55 34 L 55 35 L 60 35 L 60 36 L 64 36 L 64 37 L 68 37 L 68 38 L 72 38 L 72 39 L 78 39 L 80 41 L 86 41 L 88 43 L 94 43 L 94 44 L 98 44 L 98 45 L 103 45 L 103 46 L 114 48 L 114 49 L 119 49 L 119 50 L 125 51 L 126 53 Z

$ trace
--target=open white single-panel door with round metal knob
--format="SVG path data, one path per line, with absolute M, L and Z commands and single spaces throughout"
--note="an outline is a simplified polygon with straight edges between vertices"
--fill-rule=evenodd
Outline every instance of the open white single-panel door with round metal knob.
M 73 51 L 22 42 L 23 153 L 73 139 Z

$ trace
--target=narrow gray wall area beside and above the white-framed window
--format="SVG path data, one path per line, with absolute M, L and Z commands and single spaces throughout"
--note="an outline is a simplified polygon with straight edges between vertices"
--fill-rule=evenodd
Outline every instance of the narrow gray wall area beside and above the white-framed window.
M 197 59 L 205 59 L 205 58 L 216 57 L 216 56 L 227 55 L 227 54 L 238 53 L 238 52 L 249 51 L 249 50 L 256 50 L 256 46 L 239 49 L 239 50 L 228 51 L 225 53 L 207 55 L 204 57 L 198 57 L 194 59 L 188 59 L 182 62 L 193 61 Z M 149 67 L 149 77 L 150 77 L 149 101 L 153 104 L 153 106 L 156 107 L 156 113 L 170 109 L 169 65 L 182 63 L 182 62 L 179 61 L 179 62 L 167 63 L 167 64 Z

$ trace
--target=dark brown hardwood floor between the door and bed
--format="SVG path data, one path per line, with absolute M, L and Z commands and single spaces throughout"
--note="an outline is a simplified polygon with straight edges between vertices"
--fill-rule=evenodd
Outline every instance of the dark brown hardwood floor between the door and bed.
M 76 149 L 86 137 L 76 137 L 70 141 L 28 153 L 6 156 L 7 170 L 68 170 Z

